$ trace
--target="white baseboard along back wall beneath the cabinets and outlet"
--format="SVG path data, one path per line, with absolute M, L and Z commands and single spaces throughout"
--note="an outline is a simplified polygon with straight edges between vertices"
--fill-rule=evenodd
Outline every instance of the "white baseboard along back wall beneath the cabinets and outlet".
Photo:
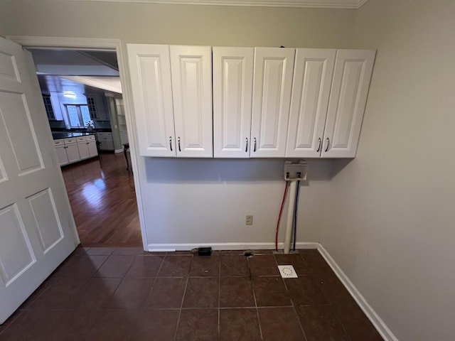
M 200 243 L 200 244 L 149 244 L 147 249 L 153 251 L 189 251 L 197 247 L 211 247 L 213 250 L 273 250 L 274 243 Z M 319 243 L 296 243 L 296 249 L 317 249 Z M 284 243 L 278 243 L 278 249 L 283 249 Z

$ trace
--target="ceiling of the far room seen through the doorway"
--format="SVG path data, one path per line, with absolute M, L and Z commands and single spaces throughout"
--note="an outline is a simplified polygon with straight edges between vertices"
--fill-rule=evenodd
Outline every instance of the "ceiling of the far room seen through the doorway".
M 122 93 L 114 51 L 32 49 L 41 92 Z

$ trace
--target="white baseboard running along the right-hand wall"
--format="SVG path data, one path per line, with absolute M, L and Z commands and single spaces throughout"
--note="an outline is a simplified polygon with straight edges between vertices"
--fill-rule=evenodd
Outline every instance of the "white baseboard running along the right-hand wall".
M 349 291 L 350 296 L 353 296 L 355 302 L 359 305 L 360 309 L 363 310 L 363 313 L 367 316 L 367 318 L 373 323 L 376 330 L 380 333 L 382 338 L 386 341 L 398 341 L 397 337 L 393 335 L 392 331 L 387 327 L 385 322 L 380 318 L 380 316 L 371 308 L 365 298 L 362 296 L 360 291 L 355 288 L 353 282 L 350 281 L 348 276 L 341 270 L 340 266 L 336 264 L 336 261 L 333 260 L 332 256 L 328 253 L 324 247 L 319 244 L 318 251 L 326 259 L 328 265 L 332 268 L 333 272 L 335 272 L 336 276 L 340 279 L 341 283 L 346 287 Z

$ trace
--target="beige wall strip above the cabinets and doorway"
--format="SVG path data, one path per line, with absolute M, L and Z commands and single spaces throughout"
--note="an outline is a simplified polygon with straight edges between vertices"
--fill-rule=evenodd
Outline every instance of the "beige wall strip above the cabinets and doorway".
M 354 10 L 0 1 L 6 35 L 122 38 L 127 43 L 343 48 Z

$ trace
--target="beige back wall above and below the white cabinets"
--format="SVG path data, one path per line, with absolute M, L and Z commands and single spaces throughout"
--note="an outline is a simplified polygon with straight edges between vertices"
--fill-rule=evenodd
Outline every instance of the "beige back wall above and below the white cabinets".
M 346 48 L 355 11 L 98 1 L 0 1 L 6 35 L 122 38 L 124 43 Z M 149 244 L 269 243 L 283 160 L 138 157 Z M 311 163 L 299 201 L 299 242 L 318 242 L 331 161 Z M 254 215 L 245 227 L 245 215 Z M 280 240 L 284 236 L 280 234 Z

